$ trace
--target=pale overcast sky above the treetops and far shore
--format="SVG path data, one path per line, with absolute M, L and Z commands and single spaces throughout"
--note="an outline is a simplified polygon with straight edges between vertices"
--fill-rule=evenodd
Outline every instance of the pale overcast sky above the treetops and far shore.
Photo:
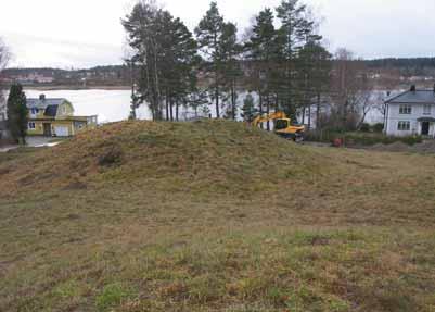
M 119 64 L 120 26 L 131 0 L 1 0 L 0 37 L 13 66 L 90 67 Z M 226 20 L 240 28 L 280 0 L 218 0 Z M 161 0 L 193 30 L 208 0 Z M 434 0 L 305 0 L 323 20 L 329 49 L 346 47 L 362 58 L 434 57 Z

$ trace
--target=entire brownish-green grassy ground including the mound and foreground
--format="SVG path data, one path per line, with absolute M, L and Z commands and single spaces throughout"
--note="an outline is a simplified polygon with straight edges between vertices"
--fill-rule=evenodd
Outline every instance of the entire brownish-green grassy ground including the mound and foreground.
M 0 154 L 0 311 L 433 311 L 434 161 L 229 122 Z

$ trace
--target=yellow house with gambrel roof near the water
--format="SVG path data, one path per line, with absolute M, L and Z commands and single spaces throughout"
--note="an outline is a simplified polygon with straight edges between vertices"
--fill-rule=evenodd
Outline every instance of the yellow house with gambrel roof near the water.
M 86 128 L 97 127 L 97 116 L 74 116 L 65 99 L 27 99 L 29 136 L 71 137 Z

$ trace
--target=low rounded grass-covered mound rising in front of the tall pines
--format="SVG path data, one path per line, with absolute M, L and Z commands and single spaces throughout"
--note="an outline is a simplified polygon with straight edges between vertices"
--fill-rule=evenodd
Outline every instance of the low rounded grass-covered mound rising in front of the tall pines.
M 87 189 L 123 182 L 206 187 L 316 174 L 325 160 L 273 134 L 225 121 L 123 122 L 0 162 L 0 194 Z M 8 171 L 4 169 L 8 167 Z

